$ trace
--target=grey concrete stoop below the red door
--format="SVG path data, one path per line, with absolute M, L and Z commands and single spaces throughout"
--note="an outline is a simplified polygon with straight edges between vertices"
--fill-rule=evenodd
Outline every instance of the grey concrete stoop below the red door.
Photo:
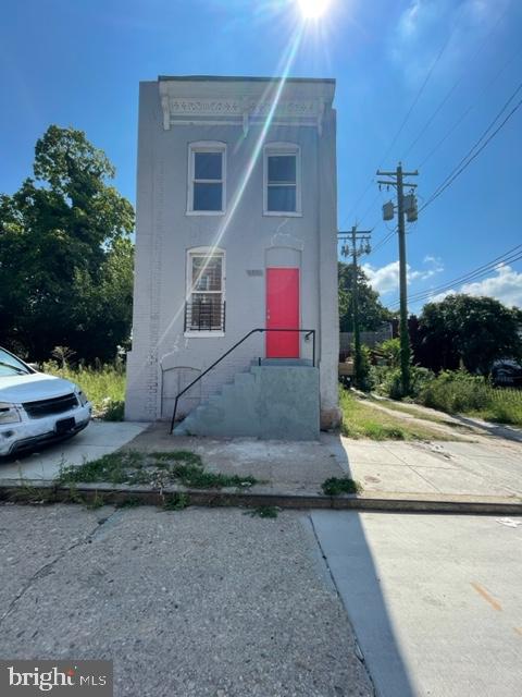
M 319 433 L 319 368 L 286 362 L 238 372 L 174 429 L 176 436 L 265 440 L 318 440 Z

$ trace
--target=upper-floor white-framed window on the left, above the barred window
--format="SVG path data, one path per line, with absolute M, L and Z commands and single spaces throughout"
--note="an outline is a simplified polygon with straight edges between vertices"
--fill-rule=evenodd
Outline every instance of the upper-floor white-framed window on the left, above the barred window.
M 219 215 L 225 211 L 224 143 L 191 143 L 188 150 L 187 212 Z

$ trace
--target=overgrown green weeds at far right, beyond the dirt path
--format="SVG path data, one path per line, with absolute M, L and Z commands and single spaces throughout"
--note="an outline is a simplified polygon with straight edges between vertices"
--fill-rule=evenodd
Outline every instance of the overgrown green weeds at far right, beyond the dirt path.
M 421 390 L 417 401 L 448 414 L 522 426 L 522 390 L 494 388 L 463 370 L 442 372 Z

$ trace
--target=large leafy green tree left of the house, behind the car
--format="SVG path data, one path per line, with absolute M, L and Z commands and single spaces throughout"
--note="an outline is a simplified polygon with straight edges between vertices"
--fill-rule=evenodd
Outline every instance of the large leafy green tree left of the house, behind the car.
M 129 334 L 134 210 L 85 133 L 51 125 L 34 178 L 0 196 L 0 341 L 49 357 L 110 359 Z

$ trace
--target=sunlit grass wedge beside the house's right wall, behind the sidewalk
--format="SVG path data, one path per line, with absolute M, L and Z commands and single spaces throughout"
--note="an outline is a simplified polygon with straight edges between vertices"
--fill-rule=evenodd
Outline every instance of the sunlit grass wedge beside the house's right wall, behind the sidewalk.
M 459 440 L 442 431 L 410 424 L 384 412 L 377 411 L 344 388 L 339 392 L 343 409 L 343 436 L 348 438 L 370 438 L 372 440 Z M 387 403 L 386 403 L 387 404 Z

